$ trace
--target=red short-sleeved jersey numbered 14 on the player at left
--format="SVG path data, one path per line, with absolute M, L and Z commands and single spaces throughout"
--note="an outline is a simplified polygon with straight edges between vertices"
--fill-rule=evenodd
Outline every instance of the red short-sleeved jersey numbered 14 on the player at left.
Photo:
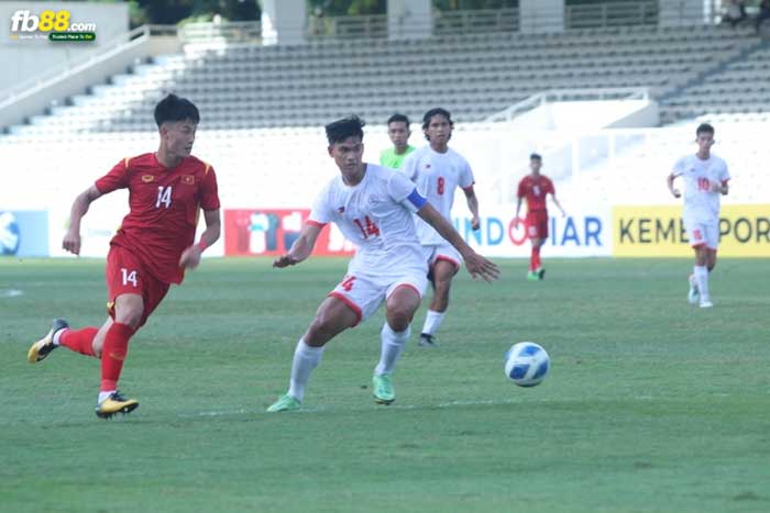
M 219 209 L 211 166 L 190 156 L 166 168 L 147 153 L 120 161 L 96 188 L 102 194 L 129 189 L 131 211 L 110 244 L 133 253 L 156 279 L 180 283 L 179 258 L 195 241 L 198 208 Z

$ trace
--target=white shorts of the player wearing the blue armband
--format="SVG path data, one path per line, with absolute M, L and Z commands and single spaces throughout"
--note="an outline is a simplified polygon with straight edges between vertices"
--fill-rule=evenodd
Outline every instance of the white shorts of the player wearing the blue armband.
M 377 311 L 383 301 L 399 287 L 409 287 L 420 295 L 428 287 L 428 277 L 422 267 L 399 269 L 395 272 L 355 272 L 345 275 L 344 279 L 329 292 L 350 306 L 359 316 L 355 324 L 366 321 Z

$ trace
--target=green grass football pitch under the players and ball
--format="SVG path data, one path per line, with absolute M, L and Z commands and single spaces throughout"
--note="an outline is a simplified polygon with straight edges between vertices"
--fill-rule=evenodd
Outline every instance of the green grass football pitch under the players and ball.
M 381 311 L 330 343 L 302 412 L 266 414 L 345 261 L 206 260 L 131 342 L 141 408 L 101 421 L 96 359 L 25 356 L 54 316 L 103 321 L 103 263 L 2 259 L 0 511 L 770 511 L 767 260 L 721 260 L 711 310 L 686 302 L 691 259 L 499 265 L 462 271 L 436 349 L 424 302 L 392 406 Z M 520 341 L 551 355 L 532 389 L 503 373 Z

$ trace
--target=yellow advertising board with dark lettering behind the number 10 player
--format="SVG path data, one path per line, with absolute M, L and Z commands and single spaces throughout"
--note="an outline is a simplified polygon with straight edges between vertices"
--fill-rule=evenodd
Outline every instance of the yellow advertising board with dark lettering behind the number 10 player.
M 719 256 L 770 257 L 770 204 L 723 205 Z M 613 256 L 689 257 L 681 205 L 613 207 Z

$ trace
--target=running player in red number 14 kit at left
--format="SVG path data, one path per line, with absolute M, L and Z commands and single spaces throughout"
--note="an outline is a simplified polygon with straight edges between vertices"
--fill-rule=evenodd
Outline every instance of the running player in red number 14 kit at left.
M 219 238 L 217 177 L 208 164 L 190 155 L 200 115 L 184 98 L 167 96 L 155 107 L 161 135 L 156 153 L 124 158 L 80 193 L 73 203 L 64 249 L 80 252 L 80 220 L 97 198 L 129 189 L 130 212 L 110 242 L 107 256 L 107 322 L 100 327 L 73 330 L 63 319 L 35 342 L 31 364 L 58 346 L 101 359 L 101 387 L 96 414 L 108 419 L 129 413 L 139 402 L 118 391 L 129 339 L 147 321 L 168 291 L 180 283 L 186 268 L 195 268 L 207 246 Z M 206 231 L 195 242 L 199 209 Z

